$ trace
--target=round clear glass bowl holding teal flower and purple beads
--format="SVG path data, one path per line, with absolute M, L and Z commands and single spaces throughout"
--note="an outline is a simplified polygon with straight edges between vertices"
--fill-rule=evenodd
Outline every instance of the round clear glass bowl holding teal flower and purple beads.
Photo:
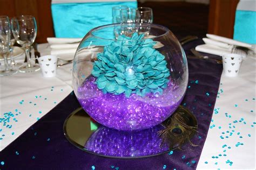
M 183 100 L 187 60 L 174 34 L 156 24 L 92 29 L 73 60 L 72 85 L 98 123 L 131 131 L 165 121 Z

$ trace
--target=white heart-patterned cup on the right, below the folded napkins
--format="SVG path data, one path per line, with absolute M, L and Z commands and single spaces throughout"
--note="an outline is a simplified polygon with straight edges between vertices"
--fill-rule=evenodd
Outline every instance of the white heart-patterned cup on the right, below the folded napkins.
M 228 77 L 237 76 L 242 63 L 242 56 L 230 53 L 224 54 L 222 58 L 224 74 Z

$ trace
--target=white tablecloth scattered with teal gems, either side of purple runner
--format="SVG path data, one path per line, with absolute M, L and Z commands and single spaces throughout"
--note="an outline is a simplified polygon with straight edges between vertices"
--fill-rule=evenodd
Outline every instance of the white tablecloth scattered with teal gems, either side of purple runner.
M 39 51 L 49 54 L 48 44 Z M 221 76 L 198 169 L 255 169 L 255 63 L 246 58 L 238 77 Z M 14 114 L 5 126 L 0 121 L 0 151 L 70 94 L 71 67 L 59 67 L 52 78 L 41 72 L 0 77 L 0 118 Z

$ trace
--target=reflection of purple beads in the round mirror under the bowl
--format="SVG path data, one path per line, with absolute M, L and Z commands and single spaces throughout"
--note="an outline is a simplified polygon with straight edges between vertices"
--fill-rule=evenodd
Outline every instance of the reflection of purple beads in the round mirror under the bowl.
M 169 150 L 162 143 L 158 131 L 164 126 L 157 125 L 141 131 L 120 131 L 100 126 L 87 140 L 85 150 L 112 157 L 141 157 Z

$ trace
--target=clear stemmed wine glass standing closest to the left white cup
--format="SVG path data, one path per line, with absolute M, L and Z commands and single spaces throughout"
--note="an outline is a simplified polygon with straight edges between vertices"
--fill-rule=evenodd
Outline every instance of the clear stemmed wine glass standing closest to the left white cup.
M 36 39 L 37 24 L 33 16 L 22 15 L 11 19 L 11 30 L 19 45 L 25 48 L 26 66 L 19 68 L 22 73 L 36 72 L 40 69 L 38 65 L 30 62 L 30 46 Z

